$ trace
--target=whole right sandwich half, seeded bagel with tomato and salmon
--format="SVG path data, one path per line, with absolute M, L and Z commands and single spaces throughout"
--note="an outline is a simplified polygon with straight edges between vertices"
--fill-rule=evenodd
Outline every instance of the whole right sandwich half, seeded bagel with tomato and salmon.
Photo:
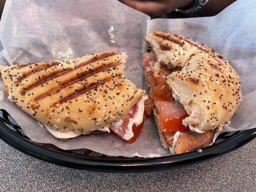
M 172 154 L 204 148 L 242 98 L 238 74 L 213 49 L 189 38 L 148 33 L 144 69 L 160 140 Z

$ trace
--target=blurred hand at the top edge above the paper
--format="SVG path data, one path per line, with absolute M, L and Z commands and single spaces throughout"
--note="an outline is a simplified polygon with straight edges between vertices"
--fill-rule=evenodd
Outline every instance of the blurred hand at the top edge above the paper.
M 151 17 L 158 17 L 174 11 L 176 8 L 190 5 L 194 0 L 120 0 L 125 5 Z

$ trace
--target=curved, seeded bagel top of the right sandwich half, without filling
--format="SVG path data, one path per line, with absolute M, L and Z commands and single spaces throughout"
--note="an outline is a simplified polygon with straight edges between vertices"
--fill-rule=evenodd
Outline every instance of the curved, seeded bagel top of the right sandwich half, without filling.
M 158 61 L 172 72 L 167 83 L 190 115 L 183 124 L 199 130 L 222 129 L 242 97 L 238 74 L 213 49 L 183 36 L 152 32 L 146 36 Z

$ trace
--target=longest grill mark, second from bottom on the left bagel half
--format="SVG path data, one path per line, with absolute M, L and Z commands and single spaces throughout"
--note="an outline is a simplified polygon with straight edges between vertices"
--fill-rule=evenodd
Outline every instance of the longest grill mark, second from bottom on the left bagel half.
M 61 86 L 59 88 L 53 87 L 47 93 L 44 93 L 44 94 L 41 94 L 40 96 L 37 96 L 34 100 L 38 101 L 40 99 L 43 99 L 46 96 L 58 93 L 58 92 L 61 91 L 61 89 L 66 88 L 67 86 L 75 84 L 75 83 L 77 83 L 79 81 L 83 81 L 86 78 L 88 78 L 88 77 L 90 77 L 90 76 L 92 76 L 92 75 L 94 75 L 96 73 L 102 72 L 102 71 L 104 71 L 106 69 L 109 69 L 109 68 L 117 66 L 117 65 L 120 65 L 120 63 L 117 62 L 117 63 L 104 64 L 104 65 L 99 66 L 97 68 L 94 68 L 92 70 L 89 70 L 89 71 L 86 71 L 86 72 L 82 72 L 79 75 L 77 75 L 75 78 L 73 78 L 73 80 L 67 80 L 67 81 L 62 82 Z

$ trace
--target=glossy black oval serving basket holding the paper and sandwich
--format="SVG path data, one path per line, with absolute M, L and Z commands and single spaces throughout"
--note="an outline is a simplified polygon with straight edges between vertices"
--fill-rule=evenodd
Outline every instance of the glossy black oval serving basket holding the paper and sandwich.
M 2 110 L 0 117 L 0 138 L 19 151 L 38 159 L 70 168 L 102 172 L 145 172 L 179 168 L 200 163 L 235 150 L 256 137 L 256 128 L 219 135 L 215 144 L 202 152 L 154 158 L 106 156 L 88 149 L 62 150 L 52 144 L 31 141 L 15 124 L 12 117 Z

